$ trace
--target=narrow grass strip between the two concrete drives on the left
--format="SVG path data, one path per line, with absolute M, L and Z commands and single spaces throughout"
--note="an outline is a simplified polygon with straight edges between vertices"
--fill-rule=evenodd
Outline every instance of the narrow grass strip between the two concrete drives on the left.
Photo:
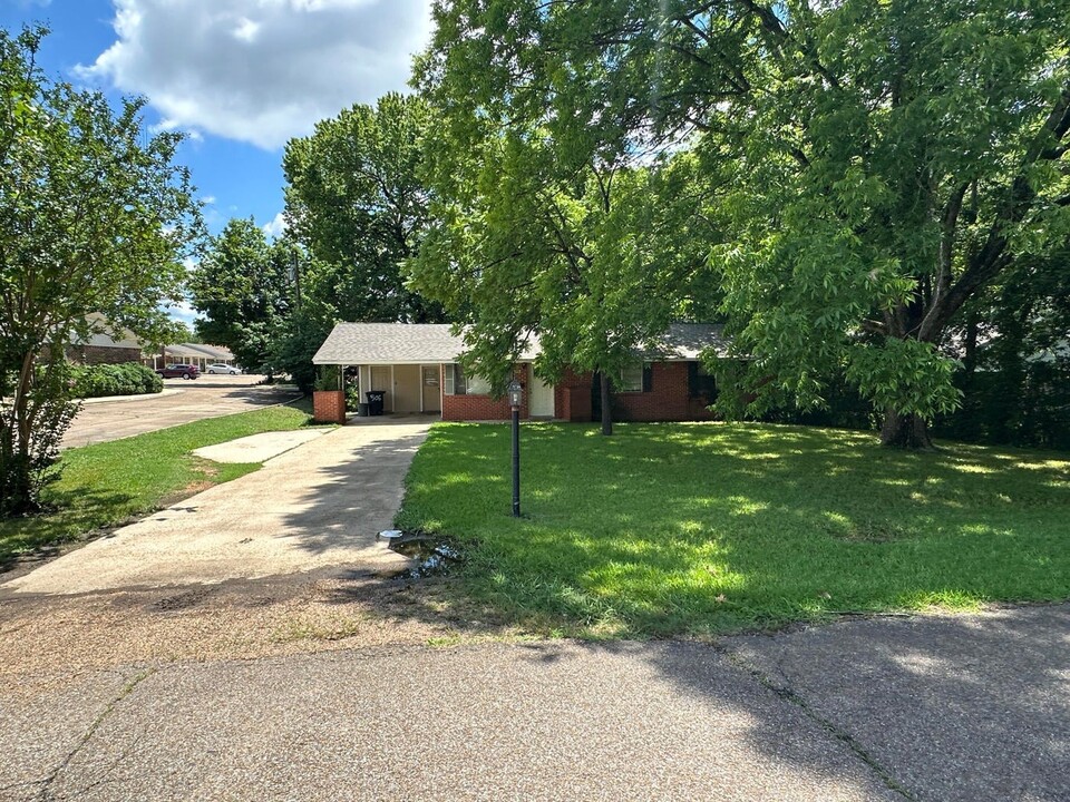
M 0 569 L 21 555 L 82 539 L 260 468 L 210 462 L 194 449 L 310 422 L 310 404 L 302 400 L 64 451 L 60 479 L 45 493 L 54 511 L 0 521 Z

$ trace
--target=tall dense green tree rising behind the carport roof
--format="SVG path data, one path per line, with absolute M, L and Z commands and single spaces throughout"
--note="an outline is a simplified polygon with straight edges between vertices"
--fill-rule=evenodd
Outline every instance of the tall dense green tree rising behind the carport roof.
M 312 356 L 338 321 L 432 323 L 442 310 L 406 285 L 403 263 L 428 225 L 419 177 L 427 105 L 387 95 L 286 144 L 289 235 L 305 250 L 301 307 L 275 331 L 272 361 L 304 390 Z

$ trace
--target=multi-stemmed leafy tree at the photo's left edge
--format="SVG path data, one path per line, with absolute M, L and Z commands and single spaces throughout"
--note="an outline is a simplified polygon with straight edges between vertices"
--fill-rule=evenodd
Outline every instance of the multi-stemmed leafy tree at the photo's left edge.
M 74 413 L 65 346 L 90 313 L 149 341 L 181 297 L 200 214 L 181 139 L 148 135 L 140 100 L 54 82 L 47 31 L 0 31 L 0 515 L 30 512 Z

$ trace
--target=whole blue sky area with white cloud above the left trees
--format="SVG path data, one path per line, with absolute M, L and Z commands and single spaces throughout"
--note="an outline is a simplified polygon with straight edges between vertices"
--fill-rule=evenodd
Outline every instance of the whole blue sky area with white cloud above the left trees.
M 282 148 L 354 102 L 403 91 L 430 35 L 429 0 L 0 0 L 0 25 L 52 33 L 39 62 L 113 99 L 144 95 L 147 121 L 189 135 L 213 233 L 252 216 L 276 232 Z M 186 315 L 183 315 L 186 316 Z

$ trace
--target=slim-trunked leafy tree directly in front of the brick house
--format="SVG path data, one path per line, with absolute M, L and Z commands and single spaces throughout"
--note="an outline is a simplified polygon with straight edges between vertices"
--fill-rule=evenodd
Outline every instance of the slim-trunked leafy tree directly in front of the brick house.
M 412 285 L 464 325 L 467 362 L 498 390 L 533 339 L 544 379 L 597 373 L 609 434 L 613 378 L 709 290 L 697 268 L 716 228 L 693 214 L 706 183 L 688 155 L 634 136 L 601 94 L 600 66 L 545 50 L 512 58 L 542 20 L 508 6 L 516 16 L 439 8 L 418 65 L 441 125 L 428 146 L 435 223 Z M 509 55 L 488 59 L 496 47 Z

